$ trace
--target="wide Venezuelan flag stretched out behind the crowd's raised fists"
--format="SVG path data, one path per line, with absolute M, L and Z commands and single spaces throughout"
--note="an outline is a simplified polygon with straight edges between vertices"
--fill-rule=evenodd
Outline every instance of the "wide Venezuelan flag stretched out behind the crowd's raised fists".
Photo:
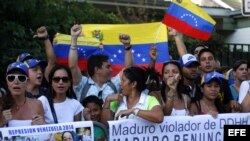
M 80 37 L 80 42 L 78 42 L 79 66 L 82 70 L 86 70 L 86 60 L 90 55 L 104 53 L 109 56 L 113 75 L 117 74 L 124 67 L 125 59 L 124 46 L 118 38 L 120 33 L 128 34 L 131 37 L 135 65 L 148 66 L 150 63 L 149 49 L 152 44 L 156 44 L 158 50 L 157 71 L 161 72 L 163 62 L 169 60 L 166 26 L 161 22 L 146 24 L 83 24 L 82 27 L 84 37 Z M 64 39 L 59 38 L 60 34 L 57 37 L 57 43 L 54 45 L 57 61 L 66 64 L 71 38 L 70 36 Z M 87 39 L 81 42 L 84 38 Z M 61 40 L 64 40 L 64 42 Z

